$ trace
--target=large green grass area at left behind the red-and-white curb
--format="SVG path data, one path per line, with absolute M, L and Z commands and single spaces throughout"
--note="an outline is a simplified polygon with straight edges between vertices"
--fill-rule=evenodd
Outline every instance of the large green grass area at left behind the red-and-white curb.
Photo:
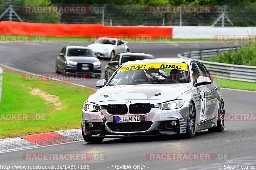
M 46 114 L 46 119 L 0 120 L 0 138 L 81 128 L 83 103 L 94 90 L 52 80 L 26 81 L 21 78 L 21 73 L 6 68 L 3 70 L 0 114 Z M 45 103 L 40 96 L 30 94 L 29 88 L 38 88 L 47 94 L 58 96 L 66 108 L 56 110 L 52 103 Z

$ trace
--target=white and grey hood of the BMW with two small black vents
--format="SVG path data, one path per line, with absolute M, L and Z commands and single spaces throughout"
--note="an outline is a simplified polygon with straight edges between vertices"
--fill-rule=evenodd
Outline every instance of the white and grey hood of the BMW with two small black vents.
M 102 87 L 92 94 L 88 101 L 97 103 L 111 100 L 156 100 L 156 103 L 159 103 L 159 100 L 175 100 L 190 89 L 190 84 L 113 85 Z M 155 96 L 158 93 L 161 94 Z

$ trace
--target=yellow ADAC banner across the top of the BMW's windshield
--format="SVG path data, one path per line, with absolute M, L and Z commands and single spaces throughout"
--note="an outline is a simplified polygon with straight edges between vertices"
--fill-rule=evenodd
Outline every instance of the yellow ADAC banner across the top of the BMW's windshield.
M 147 63 L 147 64 L 134 64 L 124 65 L 117 72 L 124 72 L 129 70 L 140 70 L 140 69 L 177 69 L 188 71 L 187 64 L 181 63 Z

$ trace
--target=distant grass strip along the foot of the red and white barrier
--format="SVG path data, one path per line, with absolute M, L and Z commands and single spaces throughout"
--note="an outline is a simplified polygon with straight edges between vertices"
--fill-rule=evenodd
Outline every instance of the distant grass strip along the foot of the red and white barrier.
M 7 35 L 0 35 L 0 41 L 8 41 L 9 37 Z M 18 40 L 18 37 L 16 35 L 13 35 Z M 129 42 L 136 42 L 136 41 L 214 41 L 213 39 L 172 39 L 172 38 L 120 38 L 124 41 L 129 41 Z M 96 41 L 96 38 L 92 37 L 45 37 L 45 36 L 23 36 L 20 37 L 20 40 L 24 41 Z

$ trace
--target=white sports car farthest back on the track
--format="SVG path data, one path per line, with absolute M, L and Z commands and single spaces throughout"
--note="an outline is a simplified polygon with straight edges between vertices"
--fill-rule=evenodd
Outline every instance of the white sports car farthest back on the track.
M 93 44 L 88 45 L 99 58 L 113 58 L 115 54 L 129 52 L 127 41 L 116 38 L 98 38 Z

